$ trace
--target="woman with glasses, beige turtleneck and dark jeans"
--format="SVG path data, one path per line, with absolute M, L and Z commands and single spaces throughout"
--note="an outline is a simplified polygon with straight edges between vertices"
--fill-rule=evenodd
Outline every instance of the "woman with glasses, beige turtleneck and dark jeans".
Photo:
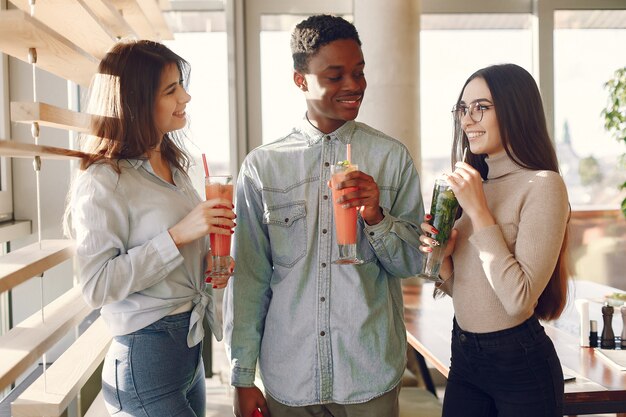
M 483 68 L 453 117 L 461 215 L 436 290 L 455 311 L 443 416 L 562 416 L 563 372 L 539 320 L 565 306 L 570 208 L 539 89 L 517 65 Z M 430 252 L 437 231 L 422 230 Z

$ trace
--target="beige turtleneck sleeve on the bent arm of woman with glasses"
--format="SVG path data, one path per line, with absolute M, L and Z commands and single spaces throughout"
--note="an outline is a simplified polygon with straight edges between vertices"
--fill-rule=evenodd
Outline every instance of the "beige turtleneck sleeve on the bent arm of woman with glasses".
M 509 315 L 523 314 L 537 304 L 556 266 L 568 217 L 567 190 L 561 176 L 540 171 L 530 181 L 517 230 L 496 224 L 470 237 L 489 284 Z M 515 241 L 512 251 L 507 237 Z

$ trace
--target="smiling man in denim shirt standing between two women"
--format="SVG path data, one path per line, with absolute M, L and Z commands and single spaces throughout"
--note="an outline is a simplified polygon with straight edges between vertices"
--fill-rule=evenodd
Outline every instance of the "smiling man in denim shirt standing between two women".
M 252 151 L 237 184 L 237 268 L 225 301 L 235 414 L 398 415 L 406 333 L 400 278 L 417 274 L 424 216 L 407 149 L 357 123 L 366 87 L 361 41 L 339 17 L 301 22 L 294 82 L 307 101 L 285 137 Z M 336 265 L 330 166 L 360 171 L 339 188 L 359 207 L 362 265 Z M 266 398 L 254 385 L 257 359 Z

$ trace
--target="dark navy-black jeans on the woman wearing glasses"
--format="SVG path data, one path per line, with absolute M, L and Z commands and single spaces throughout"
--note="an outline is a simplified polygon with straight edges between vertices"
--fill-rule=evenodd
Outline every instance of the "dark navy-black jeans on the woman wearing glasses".
M 563 371 L 537 318 L 492 333 L 456 320 L 443 417 L 563 416 Z

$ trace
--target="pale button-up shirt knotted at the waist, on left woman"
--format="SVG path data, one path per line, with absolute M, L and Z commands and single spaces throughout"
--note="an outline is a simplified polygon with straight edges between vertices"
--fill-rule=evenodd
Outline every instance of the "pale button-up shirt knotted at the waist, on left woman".
M 167 231 L 200 203 L 198 193 L 175 168 L 175 185 L 155 175 L 146 160 L 123 160 L 120 168 L 117 174 L 109 165 L 94 164 L 74 180 L 71 220 L 85 300 L 102 307 L 114 336 L 192 301 L 187 344 L 202 340 L 205 314 L 220 340 L 212 289 L 204 288 L 209 239 L 177 248 Z

